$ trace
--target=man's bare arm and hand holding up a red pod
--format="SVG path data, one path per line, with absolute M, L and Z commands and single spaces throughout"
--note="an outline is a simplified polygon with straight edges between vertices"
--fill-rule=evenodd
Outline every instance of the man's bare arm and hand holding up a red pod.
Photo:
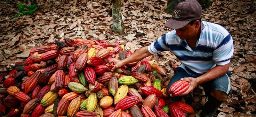
M 181 78 L 182 81 L 188 81 L 189 82 L 189 88 L 186 92 L 184 92 L 182 95 L 187 95 L 189 92 L 193 91 L 193 89 L 202 83 L 217 79 L 221 76 L 223 76 L 225 73 L 227 73 L 229 68 L 229 63 L 226 65 L 217 65 L 216 67 L 212 68 L 205 74 L 203 74 L 200 77 L 193 78 L 193 77 L 185 77 Z

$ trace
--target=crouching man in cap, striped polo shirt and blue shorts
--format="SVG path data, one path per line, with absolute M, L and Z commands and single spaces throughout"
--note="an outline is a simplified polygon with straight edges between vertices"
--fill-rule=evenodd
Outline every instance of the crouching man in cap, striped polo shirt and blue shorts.
M 229 32 L 220 25 L 201 21 L 201 14 L 202 7 L 196 0 L 179 3 L 172 18 L 164 25 L 175 30 L 122 61 L 113 59 L 115 66 L 112 71 L 124 64 L 170 50 L 182 64 L 174 70 L 167 91 L 178 80 L 189 82 L 188 90 L 182 95 L 187 95 L 197 85 L 203 86 L 208 101 L 201 116 L 212 117 L 231 91 L 226 73 L 234 48 Z

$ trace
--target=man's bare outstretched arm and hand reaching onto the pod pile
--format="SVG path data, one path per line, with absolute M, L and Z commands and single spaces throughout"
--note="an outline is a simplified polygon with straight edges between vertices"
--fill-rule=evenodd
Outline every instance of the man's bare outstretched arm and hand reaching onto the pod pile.
M 120 68 L 122 65 L 125 65 L 127 63 L 140 61 L 150 55 L 152 55 L 152 54 L 148 51 L 148 46 L 145 46 L 145 47 L 140 48 L 139 50 L 134 52 L 131 56 L 129 56 L 128 58 L 126 58 L 122 61 L 118 60 L 118 59 L 111 59 L 115 63 L 115 66 L 112 68 L 111 71 L 115 71 L 115 69 Z

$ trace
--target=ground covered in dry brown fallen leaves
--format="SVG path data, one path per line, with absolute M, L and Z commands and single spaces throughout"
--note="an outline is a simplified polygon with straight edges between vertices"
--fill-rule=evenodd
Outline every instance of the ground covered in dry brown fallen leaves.
M 148 46 L 171 29 L 164 23 L 171 17 L 164 13 L 167 0 L 128 0 L 122 2 L 124 35 L 112 33 L 110 0 L 37 0 L 38 10 L 32 15 L 13 18 L 17 4 L 26 1 L 1 1 L 0 5 L 0 71 L 12 69 L 13 63 L 24 61 L 30 49 L 66 38 L 98 38 L 125 42 L 126 50 Z M 218 117 L 256 116 L 256 1 L 213 0 L 203 11 L 202 20 L 224 26 L 232 35 L 234 55 L 229 70 L 232 93 L 217 111 Z M 173 67 L 180 61 L 170 52 L 155 56 L 172 77 Z M 197 113 L 206 98 L 198 86 L 192 106 Z M 196 115 L 189 114 L 193 117 Z

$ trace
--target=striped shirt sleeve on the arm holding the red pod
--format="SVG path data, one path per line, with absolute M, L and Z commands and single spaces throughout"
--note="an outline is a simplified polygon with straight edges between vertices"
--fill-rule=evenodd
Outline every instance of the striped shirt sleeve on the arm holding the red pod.
M 212 60 L 217 65 L 225 65 L 230 62 L 234 53 L 233 39 L 230 34 L 226 36 L 213 51 Z

